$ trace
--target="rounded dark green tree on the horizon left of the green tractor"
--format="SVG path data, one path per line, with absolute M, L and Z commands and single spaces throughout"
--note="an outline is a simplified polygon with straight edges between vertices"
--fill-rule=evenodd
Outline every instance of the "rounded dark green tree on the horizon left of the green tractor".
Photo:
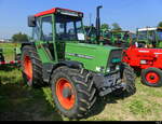
M 28 41 L 28 36 L 22 32 L 15 33 L 12 36 L 13 42 L 24 42 Z

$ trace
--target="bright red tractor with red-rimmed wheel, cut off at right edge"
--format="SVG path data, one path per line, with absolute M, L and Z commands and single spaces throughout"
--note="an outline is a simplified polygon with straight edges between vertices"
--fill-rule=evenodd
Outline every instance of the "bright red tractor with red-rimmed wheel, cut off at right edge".
M 149 86 L 162 86 L 162 49 L 145 49 L 136 45 L 123 51 L 123 61 L 135 70 L 141 70 L 141 82 Z

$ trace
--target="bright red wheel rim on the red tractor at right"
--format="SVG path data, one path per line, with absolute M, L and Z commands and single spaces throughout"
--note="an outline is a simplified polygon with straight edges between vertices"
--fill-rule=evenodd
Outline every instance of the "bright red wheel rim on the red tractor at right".
M 159 77 L 159 74 L 156 73 L 156 72 L 148 72 L 148 73 L 146 74 L 146 80 L 147 80 L 148 83 L 156 84 L 156 83 L 159 82 L 160 77 Z

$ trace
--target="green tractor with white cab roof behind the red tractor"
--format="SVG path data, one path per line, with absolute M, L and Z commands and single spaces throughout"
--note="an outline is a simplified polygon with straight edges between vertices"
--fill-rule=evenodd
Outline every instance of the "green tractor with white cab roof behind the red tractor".
M 139 47 L 162 47 L 162 28 L 137 29 L 137 43 Z

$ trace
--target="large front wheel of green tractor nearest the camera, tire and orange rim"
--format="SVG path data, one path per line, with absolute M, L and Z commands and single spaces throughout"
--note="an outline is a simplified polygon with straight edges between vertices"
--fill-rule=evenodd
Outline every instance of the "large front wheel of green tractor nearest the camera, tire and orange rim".
M 51 78 L 52 94 L 59 113 L 82 119 L 96 101 L 96 88 L 87 71 L 59 67 Z

